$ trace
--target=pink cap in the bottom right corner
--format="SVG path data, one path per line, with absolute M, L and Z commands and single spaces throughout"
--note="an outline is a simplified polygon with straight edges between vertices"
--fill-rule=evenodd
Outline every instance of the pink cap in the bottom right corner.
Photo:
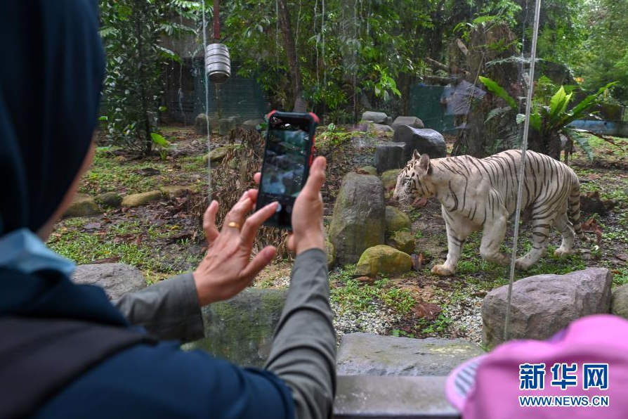
M 545 363 L 544 389 L 519 389 L 519 365 L 523 363 Z M 577 385 L 564 390 L 551 386 L 554 363 L 576 363 Z M 583 389 L 583 363 L 608 363 L 608 389 Z M 452 372 L 446 392 L 464 419 L 628 418 L 628 321 L 617 316 L 580 318 L 547 341 L 499 345 L 481 359 L 466 400 L 452 388 L 453 378 L 462 368 L 464 365 Z M 521 407 L 518 396 L 608 396 L 609 406 Z

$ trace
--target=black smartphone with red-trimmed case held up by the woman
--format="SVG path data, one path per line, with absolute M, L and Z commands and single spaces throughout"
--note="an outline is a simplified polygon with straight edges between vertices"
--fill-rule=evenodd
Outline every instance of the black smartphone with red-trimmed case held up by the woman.
M 264 225 L 292 230 L 292 207 L 310 173 L 319 121 L 312 112 L 276 110 L 267 119 L 257 209 L 279 202 L 277 211 Z

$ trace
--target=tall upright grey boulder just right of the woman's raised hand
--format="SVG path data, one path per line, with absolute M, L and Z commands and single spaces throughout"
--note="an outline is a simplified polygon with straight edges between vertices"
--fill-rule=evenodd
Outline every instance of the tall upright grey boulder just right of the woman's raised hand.
M 344 176 L 329 225 L 339 264 L 355 264 L 368 247 L 384 243 L 385 212 L 384 188 L 377 176 Z

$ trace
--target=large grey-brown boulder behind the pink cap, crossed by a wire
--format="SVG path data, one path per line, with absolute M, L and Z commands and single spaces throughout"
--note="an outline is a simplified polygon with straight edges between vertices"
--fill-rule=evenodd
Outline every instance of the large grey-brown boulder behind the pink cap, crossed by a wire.
M 536 275 L 513 284 L 509 339 L 547 339 L 571 321 L 608 313 L 611 274 L 589 268 L 566 275 Z M 489 292 L 482 304 L 483 342 L 503 342 L 508 285 Z

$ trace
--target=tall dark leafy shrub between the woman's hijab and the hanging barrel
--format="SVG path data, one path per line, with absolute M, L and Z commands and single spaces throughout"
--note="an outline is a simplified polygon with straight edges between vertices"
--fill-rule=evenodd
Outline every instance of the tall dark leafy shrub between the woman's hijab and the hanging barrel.
M 190 16 L 193 1 L 100 0 L 100 36 L 107 72 L 103 111 L 107 138 L 138 154 L 150 155 L 157 131 L 162 70 L 168 61 L 181 60 L 159 41 L 164 36 L 195 33 L 173 22 L 178 13 Z M 160 148 L 160 153 L 164 148 Z

